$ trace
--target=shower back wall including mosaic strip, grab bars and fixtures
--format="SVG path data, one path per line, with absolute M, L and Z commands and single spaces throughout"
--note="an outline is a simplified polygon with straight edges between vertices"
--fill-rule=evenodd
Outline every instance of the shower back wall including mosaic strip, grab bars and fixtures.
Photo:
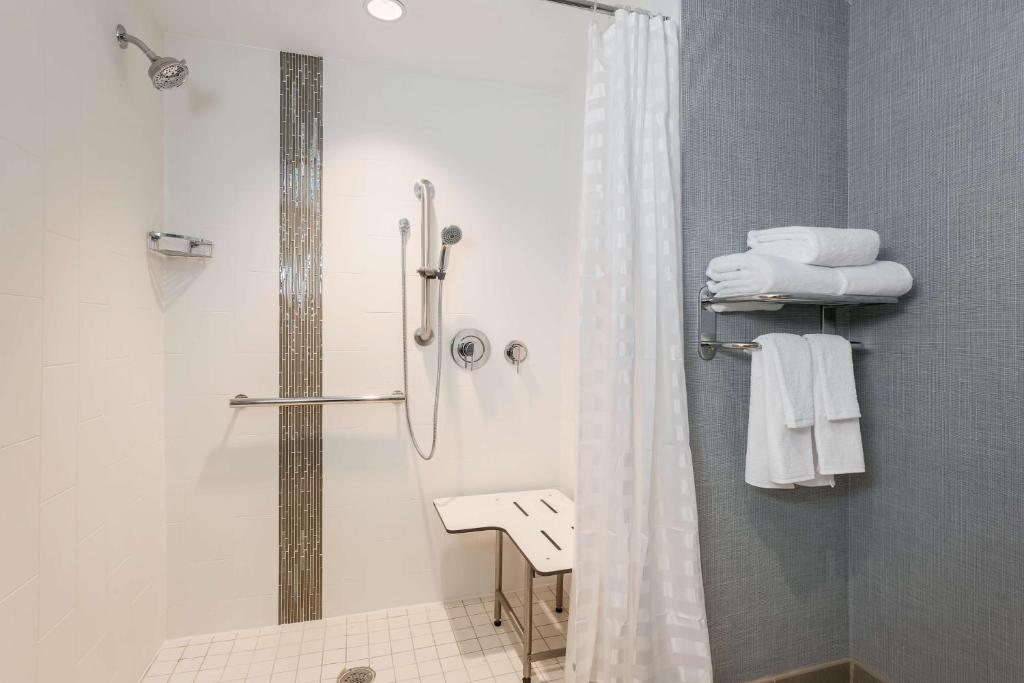
M 577 72 L 539 88 L 532 68 L 487 82 L 186 32 L 165 49 L 191 67 L 181 92 L 216 93 L 165 104 L 165 227 L 216 249 L 166 311 L 168 424 L 189 425 L 169 635 L 490 593 L 493 541 L 447 536 L 432 501 L 571 469 Z

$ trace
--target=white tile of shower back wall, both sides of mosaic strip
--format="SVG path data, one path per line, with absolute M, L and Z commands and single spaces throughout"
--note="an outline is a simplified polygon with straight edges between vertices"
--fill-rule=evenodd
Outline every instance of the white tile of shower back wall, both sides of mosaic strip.
M 278 414 L 231 411 L 227 398 L 278 392 L 279 55 L 176 35 L 166 43 L 193 65 L 185 96 L 164 100 L 166 226 L 216 241 L 209 262 L 161 273 L 173 284 L 168 629 L 179 636 L 276 618 Z M 479 327 L 495 344 L 473 375 L 445 360 L 430 463 L 409 449 L 398 409 L 326 410 L 326 614 L 476 595 L 489 588 L 493 540 L 444 535 L 431 499 L 557 485 L 570 461 L 575 100 L 341 61 L 326 63 L 325 91 L 325 392 L 400 388 L 397 221 L 416 222 L 421 177 L 437 186 L 439 224 L 466 236 L 442 341 Z M 414 234 L 411 269 L 418 244 Z M 518 376 L 501 356 L 513 338 L 530 350 Z M 435 350 L 411 347 L 423 437 Z

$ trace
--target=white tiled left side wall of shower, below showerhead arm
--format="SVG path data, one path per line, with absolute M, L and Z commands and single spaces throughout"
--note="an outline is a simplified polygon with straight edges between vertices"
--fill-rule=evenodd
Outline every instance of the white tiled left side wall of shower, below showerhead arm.
M 128 0 L 0 0 L 4 681 L 134 682 L 164 636 L 162 108 L 118 22 L 160 47 Z

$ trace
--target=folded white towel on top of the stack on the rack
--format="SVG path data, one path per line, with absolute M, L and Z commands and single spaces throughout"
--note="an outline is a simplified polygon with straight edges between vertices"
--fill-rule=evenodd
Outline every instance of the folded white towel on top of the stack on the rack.
M 878 232 L 857 228 L 788 225 L 746 233 L 754 253 L 809 265 L 867 265 L 878 258 L 879 245 Z

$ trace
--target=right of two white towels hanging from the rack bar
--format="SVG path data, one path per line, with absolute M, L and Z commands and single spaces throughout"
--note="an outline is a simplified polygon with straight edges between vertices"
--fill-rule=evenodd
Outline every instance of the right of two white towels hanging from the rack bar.
M 814 366 L 814 450 L 821 474 L 864 471 L 860 404 L 850 342 L 836 335 L 807 335 Z

